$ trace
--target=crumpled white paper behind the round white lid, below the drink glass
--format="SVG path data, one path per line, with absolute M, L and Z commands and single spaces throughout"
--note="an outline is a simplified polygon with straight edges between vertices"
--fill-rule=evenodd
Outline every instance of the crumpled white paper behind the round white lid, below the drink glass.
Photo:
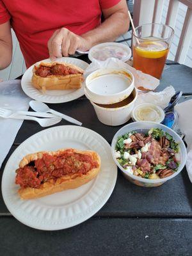
M 155 90 L 159 85 L 159 79 L 156 77 L 145 74 L 140 70 L 136 70 L 127 63 L 116 58 L 108 58 L 106 61 L 93 60 L 93 62 L 84 71 L 84 76 L 87 77 L 93 71 L 100 68 L 125 68 L 129 70 L 134 76 L 134 85 L 136 88 L 143 87 L 147 90 Z

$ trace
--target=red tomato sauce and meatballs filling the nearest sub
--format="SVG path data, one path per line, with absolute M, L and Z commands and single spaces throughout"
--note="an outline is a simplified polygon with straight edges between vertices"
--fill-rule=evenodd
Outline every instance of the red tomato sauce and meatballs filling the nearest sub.
M 74 153 L 73 150 L 66 150 L 59 156 L 44 154 L 41 159 L 17 169 L 15 183 L 21 188 L 39 188 L 47 180 L 73 173 L 81 176 L 97 167 L 98 163 L 92 156 Z

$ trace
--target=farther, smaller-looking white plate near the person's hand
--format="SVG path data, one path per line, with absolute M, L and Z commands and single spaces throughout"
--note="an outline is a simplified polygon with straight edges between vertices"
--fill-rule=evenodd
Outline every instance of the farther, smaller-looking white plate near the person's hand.
M 51 62 L 50 59 L 42 61 Z M 88 67 L 88 63 L 76 58 L 63 57 L 58 58 L 58 60 L 56 61 L 64 61 L 67 63 L 71 63 L 79 68 L 82 68 L 83 70 L 85 70 Z M 40 62 L 41 61 L 39 61 L 38 63 Z M 37 90 L 31 83 L 33 67 L 34 65 L 29 67 L 21 79 L 22 90 L 24 91 L 24 93 L 26 93 L 26 95 L 28 95 L 32 99 L 39 100 L 45 103 L 63 103 L 78 99 L 79 97 L 84 95 L 84 83 L 82 84 L 82 87 L 77 90 L 47 90 L 45 93 L 42 93 L 42 90 Z

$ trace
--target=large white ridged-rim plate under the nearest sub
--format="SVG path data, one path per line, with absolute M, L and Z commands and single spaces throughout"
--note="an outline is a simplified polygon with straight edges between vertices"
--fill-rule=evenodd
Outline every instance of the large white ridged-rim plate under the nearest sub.
M 33 200 L 20 200 L 15 170 L 26 154 L 59 148 L 94 150 L 101 157 L 99 175 L 87 184 Z M 38 132 L 24 141 L 8 160 L 3 173 L 2 193 L 8 210 L 29 227 L 59 230 L 77 225 L 107 202 L 116 182 L 117 168 L 108 142 L 84 127 L 65 125 Z

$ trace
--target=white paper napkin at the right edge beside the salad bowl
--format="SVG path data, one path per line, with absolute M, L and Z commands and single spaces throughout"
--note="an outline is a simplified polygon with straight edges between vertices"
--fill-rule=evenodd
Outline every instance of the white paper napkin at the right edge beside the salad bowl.
M 192 100 L 186 100 L 175 106 L 175 110 L 179 115 L 178 125 L 180 131 L 185 134 L 185 141 L 188 144 L 188 159 L 186 168 L 189 179 L 192 182 Z

